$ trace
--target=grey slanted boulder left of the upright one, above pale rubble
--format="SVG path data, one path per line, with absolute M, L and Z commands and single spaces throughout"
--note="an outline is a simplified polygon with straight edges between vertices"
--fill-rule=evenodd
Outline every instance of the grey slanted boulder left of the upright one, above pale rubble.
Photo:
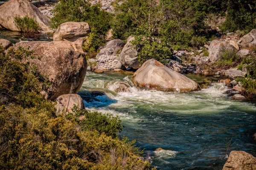
M 118 55 L 118 53 L 121 52 L 124 45 L 125 43 L 120 39 L 108 41 L 106 46 L 99 51 L 97 57 L 101 55 Z

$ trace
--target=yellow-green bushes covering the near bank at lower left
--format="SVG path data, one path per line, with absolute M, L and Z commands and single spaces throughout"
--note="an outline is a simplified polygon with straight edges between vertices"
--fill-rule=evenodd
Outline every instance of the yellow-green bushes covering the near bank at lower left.
M 149 170 L 134 141 L 119 139 L 118 117 L 78 110 L 56 115 L 41 90 L 50 83 L 26 58 L 27 49 L 0 47 L 0 169 Z

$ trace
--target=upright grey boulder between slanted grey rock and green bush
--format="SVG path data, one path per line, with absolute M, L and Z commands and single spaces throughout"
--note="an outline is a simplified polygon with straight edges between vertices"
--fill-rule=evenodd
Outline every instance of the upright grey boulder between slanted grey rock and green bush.
M 140 62 L 138 61 L 138 52 L 136 49 L 137 46 L 131 43 L 131 41 L 134 39 L 134 37 L 128 37 L 127 43 L 122 49 L 119 58 L 123 66 L 129 66 L 134 69 L 138 69 L 140 68 Z

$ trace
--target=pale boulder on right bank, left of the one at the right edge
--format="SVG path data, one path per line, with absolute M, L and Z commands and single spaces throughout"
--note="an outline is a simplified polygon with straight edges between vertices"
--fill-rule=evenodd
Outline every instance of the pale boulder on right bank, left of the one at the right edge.
M 225 50 L 239 50 L 238 44 L 234 40 L 226 41 L 219 41 L 213 40 L 209 46 L 209 61 L 215 62 L 218 60 L 219 56 Z

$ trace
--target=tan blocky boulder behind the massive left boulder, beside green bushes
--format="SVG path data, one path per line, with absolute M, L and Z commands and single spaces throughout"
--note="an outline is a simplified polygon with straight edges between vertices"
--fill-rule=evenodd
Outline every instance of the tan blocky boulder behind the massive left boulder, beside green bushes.
M 66 22 L 62 23 L 53 35 L 54 41 L 66 39 L 75 41 L 79 37 L 85 37 L 89 34 L 90 27 L 86 22 Z

